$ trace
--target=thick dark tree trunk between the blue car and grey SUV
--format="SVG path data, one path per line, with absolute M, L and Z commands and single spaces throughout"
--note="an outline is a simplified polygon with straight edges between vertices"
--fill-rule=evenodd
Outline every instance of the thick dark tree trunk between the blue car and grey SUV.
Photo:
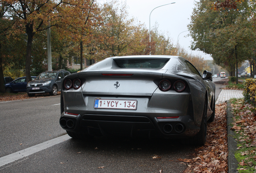
M 31 29 L 32 28 L 32 29 Z M 32 51 L 32 41 L 33 41 L 33 25 L 27 26 L 27 50 L 26 50 L 26 79 L 27 82 L 31 81 L 31 72 L 30 72 L 30 64 L 31 64 L 31 51 Z

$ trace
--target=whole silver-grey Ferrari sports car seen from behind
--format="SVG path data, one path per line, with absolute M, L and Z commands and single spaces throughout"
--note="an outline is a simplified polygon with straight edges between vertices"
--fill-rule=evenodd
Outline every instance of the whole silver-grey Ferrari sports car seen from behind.
M 64 78 L 60 125 L 73 138 L 186 138 L 204 145 L 215 84 L 180 56 L 116 56 Z

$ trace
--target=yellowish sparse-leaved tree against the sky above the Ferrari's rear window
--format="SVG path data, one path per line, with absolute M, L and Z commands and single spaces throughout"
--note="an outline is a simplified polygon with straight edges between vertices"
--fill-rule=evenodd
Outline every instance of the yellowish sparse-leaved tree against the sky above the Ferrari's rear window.
M 108 56 L 123 55 L 128 46 L 135 40 L 134 18 L 128 19 L 126 4 L 109 2 L 104 5 L 103 21 L 101 27 L 102 48 Z

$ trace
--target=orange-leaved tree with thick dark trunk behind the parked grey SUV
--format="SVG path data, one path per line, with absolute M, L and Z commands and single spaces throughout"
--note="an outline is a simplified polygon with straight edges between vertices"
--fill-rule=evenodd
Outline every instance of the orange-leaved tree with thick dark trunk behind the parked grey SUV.
M 9 15 L 15 16 L 14 33 L 26 33 L 26 76 L 31 80 L 31 52 L 34 36 L 37 32 L 46 30 L 48 22 L 54 25 L 57 20 L 56 8 L 62 4 L 62 0 L 8 0 L 6 4 Z M 7 16 L 4 16 L 6 18 Z

